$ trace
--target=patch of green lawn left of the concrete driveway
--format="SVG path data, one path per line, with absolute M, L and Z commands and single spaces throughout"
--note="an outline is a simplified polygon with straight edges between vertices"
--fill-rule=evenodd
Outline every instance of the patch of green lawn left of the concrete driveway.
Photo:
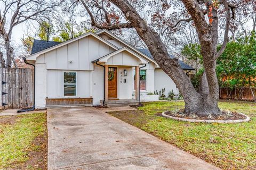
M 31 159 L 31 153 L 38 157 L 37 151 L 43 146 L 35 139 L 47 139 L 46 131 L 45 113 L 0 116 L 0 169 L 21 169 L 20 165 Z M 35 160 L 31 164 L 35 164 Z M 23 168 L 34 169 L 30 164 Z

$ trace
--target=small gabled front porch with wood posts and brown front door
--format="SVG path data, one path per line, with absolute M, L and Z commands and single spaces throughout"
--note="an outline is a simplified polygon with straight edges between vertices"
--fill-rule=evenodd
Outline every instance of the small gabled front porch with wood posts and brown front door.
M 140 103 L 140 66 L 148 64 L 145 58 L 124 47 L 92 63 L 104 69 L 102 106 L 121 107 Z

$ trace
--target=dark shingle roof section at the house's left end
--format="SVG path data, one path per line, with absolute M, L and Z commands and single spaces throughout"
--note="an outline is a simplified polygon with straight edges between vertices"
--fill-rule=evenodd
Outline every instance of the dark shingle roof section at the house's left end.
M 60 42 L 44 41 L 44 40 L 35 39 L 34 43 L 33 43 L 32 50 L 31 50 L 31 54 L 35 54 L 37 52 L 41 52 L 44 49 L 53 47 L 53 46 L 58 45 L 58 44 L 60 44 Z

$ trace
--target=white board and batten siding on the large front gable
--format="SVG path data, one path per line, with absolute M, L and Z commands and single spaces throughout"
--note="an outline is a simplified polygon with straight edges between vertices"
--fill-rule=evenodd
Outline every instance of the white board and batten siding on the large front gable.
M 39 55 L 36 63 L 46 64 L 46 69 L 92 71 L 91 62 L 111 52 L 114 52 L 113 48 L 92 36 L 87 36 Z

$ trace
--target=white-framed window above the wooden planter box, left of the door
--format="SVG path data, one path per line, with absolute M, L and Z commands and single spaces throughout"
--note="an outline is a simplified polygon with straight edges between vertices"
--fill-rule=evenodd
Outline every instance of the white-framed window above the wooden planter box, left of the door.
M 76 96 L 76 72 L 64 72 L 64 96 Z

